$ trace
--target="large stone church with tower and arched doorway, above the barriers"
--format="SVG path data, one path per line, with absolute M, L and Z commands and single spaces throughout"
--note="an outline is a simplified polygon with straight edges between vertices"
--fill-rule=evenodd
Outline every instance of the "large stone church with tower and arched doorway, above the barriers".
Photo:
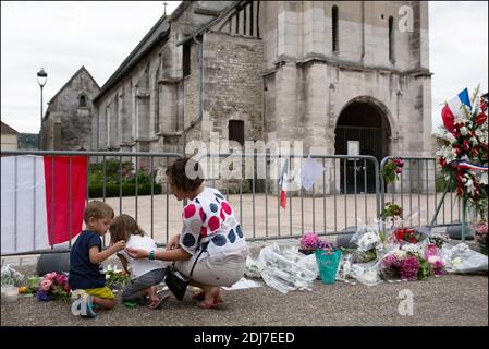
M 427 1 L 183 1 L 100 89 L 72 93 L 86 139 L 45 146 L 182 153 L 219 137 L 429 156 L 428 53 Z

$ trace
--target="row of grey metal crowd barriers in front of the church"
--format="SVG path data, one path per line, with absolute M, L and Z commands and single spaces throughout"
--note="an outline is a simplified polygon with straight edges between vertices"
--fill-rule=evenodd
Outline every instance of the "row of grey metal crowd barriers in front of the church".
M 86 203 L 97 198 L 111 205 L 115 215 L 122 213 L 132 215 L 158 245 L 164 245 L 169 237 L 180 232 L 181 213 L 185 202 L 178 202 L 169 192 L 164 170 L 172 160 L 183 157 L 181 154 L 1 151 L 2 157 L 20 155 L 69 157 L 70 198 L 73 181 L 76 181 L 76 178 L 72 179 L 72 157 L 86 156 L 88 160 Z M 283 158 L 278 155 L 219 154 L 207 155 L 201 161 L 210 164 L 205 166 L 210 173 L 210 176 L 206 173 L 208 177 L 206 184 L 217 188 L 225 195 L 235 209 L 234 214 L 248 240 L 297 238 L 308 231 L 325 236 L 352 231 L 358 226 L 371 226 L 374 220 L 379 218 L 387 202 L 402 206 L 403 225 L 444 226 L 453 224 L 455 219 L 460 220 L 460 203 L 454 212 L 455 202 L 459 201 L 450 192 L 441 203 L 437 219 L 432 224 L 430 221 L 436 214 L 438 196 L 441 196 L 437 191 L 444 189 L 437 173 L 436 158 L 401 157 L 405 165 L 399 179 L 394 183 L 387 184 L 380 169 L 389 159 L 399 157 L 382 159 L 380 167 L 372 156 L 310 155 L 310 157 L 320 164 L 325 171 L 309 191 L 302 186 L 288 190 L 285 208 L 280 205 Z M 286 172 L 295 173 L 297 168 L 303 167 L 305 160 L 306 156 L 291 158 L 285 163 Z M 54 161 L 51 164 L 52 203 L 57 184 Z M 231 172 L 223 171 L 225 172 L 223 177 L 216 176 L 216 168 L 222 169 L 227 166 L 228 169 L 231 166 Z M 219 170 L 217 172 L 219 173 Z M 229 174 L 246 174 L 245 172 L 248 176 L 235 178 L 236 176 Z M 19 219 L 19 210 L 20 207 L 15 204 L 15 214 L 12 217 L 15 221 Z M 72 215 L 71 205 L 69 215 L 70 217 Z M 74 239 L 70 229 L 68 243 L 51 244 L 49 250 L 33 250 L 19 254 L 66 252 Z M 105 245 L 108 244 L 108 239 L 106 234 Z

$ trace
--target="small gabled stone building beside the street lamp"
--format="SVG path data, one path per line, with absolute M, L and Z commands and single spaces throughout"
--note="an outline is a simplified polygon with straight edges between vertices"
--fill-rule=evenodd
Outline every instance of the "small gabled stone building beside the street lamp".
M 41 149 L 93 149 L 94 98 L 100 87 L 82 67 L 48 103 L 42 118 Z

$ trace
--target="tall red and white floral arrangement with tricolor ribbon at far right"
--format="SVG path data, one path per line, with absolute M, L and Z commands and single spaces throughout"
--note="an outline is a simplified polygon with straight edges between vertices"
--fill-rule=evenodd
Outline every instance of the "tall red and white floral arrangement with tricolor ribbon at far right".
M 456 195 L 484 216 L 488 198 L 488 116 L 487 94 L 477 103 L 478 95 L 477 86 L 469 100 L 464 89 L 459 94 L 463 98 L 455 97 L 459 105 L 465 100 L 459 110 L 451 110 L 449 104 L 443 108 L 444 129 L 437 136 L 437 157 L 444 179 L 455 183 Z

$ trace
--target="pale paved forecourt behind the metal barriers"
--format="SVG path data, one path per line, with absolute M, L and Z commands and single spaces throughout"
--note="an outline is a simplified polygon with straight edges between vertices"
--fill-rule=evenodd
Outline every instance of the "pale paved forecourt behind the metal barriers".
M 435 197 L 435 195 L 404 194 L 402 202 L 407 225 L 429 224 L 436 210 L 436 198 L 439 200 L 440 195 Z M 285 209 L 279 206 L 277 196 L 272 195 L 233 194 L 229 195 L 229 201 L 247 238 L 322 232 L 325 227 L 327 232 L 333 232 L 341 231 L 345 227 L 362 226 L 365 222 L 374 226 L 377 214 L 376 196 L 372 194 L 292 197 L 289 198 Z M 401 196 L 388 195 L 386 201 L 395 201 L 400 204 Z M 166 194 L 155 195 L 152 201 L 151 196 L 139 196 L 137 204 L 136 197 L 123 197 L 122 205 L 119 197 L 110 197 L 106 202 L 114 208 L 115 214 L 122 212 L 137 216 L 140 227 L 148 234 L 152 233 L 158 243 L 164 243 L 168 237 L 180 232 L 182 227 L 182 202 L 178 202 L 173 195 L 168 196 L 168 202 Z M 447 196 L 444 213 L 443 209 L 440 212 L 438 224 L 449 224 L 453 219 L 459 219 L 457 208 L 457 206 L 451 208 L 450 196 Z

